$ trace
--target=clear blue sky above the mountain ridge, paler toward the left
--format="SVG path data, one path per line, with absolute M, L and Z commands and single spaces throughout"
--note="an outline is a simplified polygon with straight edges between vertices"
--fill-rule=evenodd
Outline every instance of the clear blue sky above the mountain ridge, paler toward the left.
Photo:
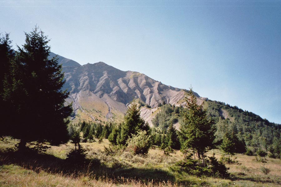
M 103 61 L 281 123 L 281 1 L 1 1 L 13 46 L 37 24 L 52 52 Z

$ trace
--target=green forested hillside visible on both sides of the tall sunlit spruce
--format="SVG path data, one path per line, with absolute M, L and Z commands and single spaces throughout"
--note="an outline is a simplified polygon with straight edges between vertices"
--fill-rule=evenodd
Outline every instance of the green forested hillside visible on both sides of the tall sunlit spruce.
M 186 108 L 165 104 L 160 110 L 152 119 L 152 124 L 163 130 L 169 124 L 179 127 L 182 122 L 181 113 L 186 111 Z M 233 134 L 240 143 L 252 146 L 255 151 L 263 149 L 270 151 L 269 156 L 280 158 L 280 124 L 269 122 L 252 112 L 218 101 L 205 101 L 204 110 L 215 122 L 218 145 L 223 141 L 225 134 L 229 133 Z

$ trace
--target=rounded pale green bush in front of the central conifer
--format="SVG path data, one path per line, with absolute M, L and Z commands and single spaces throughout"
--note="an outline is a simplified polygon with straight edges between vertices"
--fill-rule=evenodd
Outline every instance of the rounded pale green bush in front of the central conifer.
M 128 149 L 132 150 L 135 155 L 147 154 L 151 146 L 150 135 L 146 131 L 140 130 L 127 140 Z

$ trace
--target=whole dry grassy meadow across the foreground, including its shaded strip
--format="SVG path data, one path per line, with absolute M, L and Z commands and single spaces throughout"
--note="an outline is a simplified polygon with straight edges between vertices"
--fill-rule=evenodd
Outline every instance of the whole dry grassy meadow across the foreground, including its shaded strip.
M 12 151 L 18 140 L 0 141 L 0 186 L 281 186 L 281 160 L 266 157 L 266 162 L 255 156 L 237 154 L 238 163 L 229 167 L 229 179 L 196 177 L 173 172 L 170 167 L 183 159 L 180 151 L 164 156 L 152 147 L 146 156 L 133 155 L 127 150 L 109 148 L 101 143 L 81 143 L 87 152 L 87 162 L 67 163 L 67 153 L 74 145 L 51 146 L 45 154 L 19 154 Z M 220 150 L 210 150 L 220 157 Z M 268 168 L 266 175 L 262 168 Z

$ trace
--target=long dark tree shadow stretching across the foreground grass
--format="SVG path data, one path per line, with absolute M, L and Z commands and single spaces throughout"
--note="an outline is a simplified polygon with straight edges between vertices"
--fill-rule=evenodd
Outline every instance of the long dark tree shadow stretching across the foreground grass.
M 67 160 L 53 155 L 38 154 L 36 152 L 20 153 L 18 151 L 0 151 L 0 165 L 14 164 L 37 173 L 45 171 L 51 174 L 64 176 L 87 176 L 92 178 L 112 179 L 116 183 L 123 183 L 124 178 L 141 182 L 167 182 L 175 181 L 175 177 L 169 172 L 159 169 L 143 169 L 126 167 L 121 164 L 118 167 L 108 167 L 98 159 L 86 160 L 82 164 L 70 163 Z

